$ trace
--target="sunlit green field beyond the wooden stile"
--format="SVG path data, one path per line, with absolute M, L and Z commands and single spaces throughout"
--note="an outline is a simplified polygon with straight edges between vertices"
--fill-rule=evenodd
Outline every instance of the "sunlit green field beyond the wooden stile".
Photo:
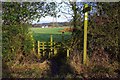
M 62 41 L 62 33 L 59 32 L 60 30 L 63 30 L 64 28 L 30 28 L 30 30 L 33 32 L 33 37 L 35 40 L 39 41 L 49 41 L 50 35 L 53 35 L 53 40 L 55 42 Z M 70 38 L 71 33 L 65 32 L 64 33 L 64 40 L 67 40 Z

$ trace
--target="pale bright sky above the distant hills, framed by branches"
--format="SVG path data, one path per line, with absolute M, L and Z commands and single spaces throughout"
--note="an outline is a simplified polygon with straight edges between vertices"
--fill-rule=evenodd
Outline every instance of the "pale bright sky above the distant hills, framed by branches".
M 72 13 L 70 8 L 66 4 L 62 4 L 61 10 L 65 13 Z M 69 11 L 68 11 L 69 10 Z M 65 14 L 59 12 L 57 15 L 60 15 L 60 17 L 51 17 L 51 16 L 46 16 L 46 17 L 41 17 L 39 22 L 33 21 L 33 24 L 41 24 L 41 23 L 50 23 L 50 22 L 69 22 L 72 19 L 72 15 Z

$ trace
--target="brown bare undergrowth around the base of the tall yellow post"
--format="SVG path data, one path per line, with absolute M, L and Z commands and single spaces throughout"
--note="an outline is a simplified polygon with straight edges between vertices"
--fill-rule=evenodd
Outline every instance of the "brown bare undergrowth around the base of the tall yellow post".
M 115 61 L 111 62 L 104 48 L 96 48 L 92 56 L 88 58 L 87 65 L 82 64 L 82 54 L 78 51 L 73 51 L 69 62 L 75 74 L 82 75 L 86 78 L 117 77 L 115 70 L 118 69 L 118 63 Z

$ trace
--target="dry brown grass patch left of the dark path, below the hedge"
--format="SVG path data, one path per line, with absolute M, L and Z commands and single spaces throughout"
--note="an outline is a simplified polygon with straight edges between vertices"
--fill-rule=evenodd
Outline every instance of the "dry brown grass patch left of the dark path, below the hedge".
M 50 62 L 17 64 L 9 67 L 13 78 L 41 78 L 50 74 Z M 6 71 L 7 72 L 7 71 Z M 6 76 L 7 77 L 7 76 Z

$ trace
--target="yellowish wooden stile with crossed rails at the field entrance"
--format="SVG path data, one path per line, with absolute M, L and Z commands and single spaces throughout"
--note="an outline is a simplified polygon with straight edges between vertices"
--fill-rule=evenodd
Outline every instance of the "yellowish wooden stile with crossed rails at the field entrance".
M 38 45 L 38 55 L 37 57 L 38 58 L 41 58 L 42 56 L 46 56 L 46 52 L 45 52 L 45 49 L 47 50 L 50 50 L 49 54 L 48 54 L 48 57 L 51 58 L 52 56 L 56 56 L 57 55 L 57 46 L 60 46 L 59 44 L 56 45 L 55 42 L 53 42 L 53 36 L 50 35 L 50 42 L 48 42 L 48 44 L 46 44 L 47 42 L 40 42 L 40 41 L 37 41 L 37 45 Z M 35 46 L 35 45 L 33 45 Z M 47 46 L 49 48 L 47 48 Z M 68 58 L 70 56 L 70 48 L 65 48 L 66 49 L 66 57 Z M 35 49 L 33 49 L 35 51 Z M 42 50 L 42 52 L 41 52 Z M 41 56 L 42 54 L 42 56 Z

